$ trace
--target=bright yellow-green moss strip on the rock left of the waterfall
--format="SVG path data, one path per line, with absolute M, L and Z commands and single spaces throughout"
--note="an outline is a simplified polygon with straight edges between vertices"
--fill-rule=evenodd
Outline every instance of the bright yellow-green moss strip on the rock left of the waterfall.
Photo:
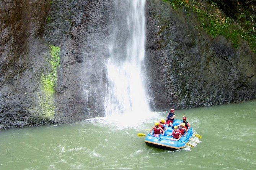
M 57 82 L 57 68 L 60 65 L 60 48 L 50 45 L 49 63 L 51 70 L 47 74 L 41 75 L 41 95 L 39 95 L 42 117 L 54 118 L 54 87 Z

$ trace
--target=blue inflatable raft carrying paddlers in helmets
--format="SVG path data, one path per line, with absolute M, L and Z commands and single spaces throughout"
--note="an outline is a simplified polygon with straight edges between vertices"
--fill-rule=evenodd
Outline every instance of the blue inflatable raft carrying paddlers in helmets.
M 182 122 L 182 120 L 174 120 L 173 126 L 179 125 Z M 150 135 L 150 133 L 146 136 L 145 138 L 145 143 L 147 146 L 159 148 L 159 149 L 165 149 L 165 150 L 170 150 L 170 151 L 175 151 L 177 149 L 182 149 L 187 145 L 191 146 L 188 144 L 189 139 L 193 135 L 193 129 L 190 127 L 188 130 L 186 136 L 181 136 L 180 140 L 178 141 L 171 141 L 172 136 L 166 136 L 172 134 L 173 129 L 171 127 L 166 127 L 166 131 L 164 135 L 160 135 L 159 137 L 154 137 Z

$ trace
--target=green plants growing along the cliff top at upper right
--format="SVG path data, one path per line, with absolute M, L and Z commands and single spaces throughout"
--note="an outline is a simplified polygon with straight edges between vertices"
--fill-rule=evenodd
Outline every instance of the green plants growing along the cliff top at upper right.
M 211 2 L 211 4 L 205 8 L 207 10 L 203 10 L 200 9 L 200 5 L 197 4 L 195 0 L 189 1 L 190 3 L 186 3 L 186 0 L 163 1 L 170 2 L 174 10 L 185 8 L 187 12 L 196 13 L 201 27 L 212 37 L 222 35 L 231 40 L 235 48 L 239 47 L 240 39 L 244 39 L 249 43 L 254 53 L 256 53 L 256 34 L 254 34 L 255 30 L 253 24 L 251 24 L 251 22 L 256 19 L 256 16 L 251 16 L 250 20 L 246 20 L 248 14 L 241 13 L 235 22 L 234 19 L 222 15 L 215 2 Z M 190 15 L 186 14 L 186 16 L 189 17 Z

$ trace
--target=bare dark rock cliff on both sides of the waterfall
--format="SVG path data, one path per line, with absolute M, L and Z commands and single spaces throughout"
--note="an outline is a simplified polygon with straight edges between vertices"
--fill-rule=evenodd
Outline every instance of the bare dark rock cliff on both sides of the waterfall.
M 109 54 L 104 51 L 113 29 L 113 1 L 5 0 L 0 6 L 0 128 L 102 116 L 104 94 L 97 92 L 106 88 L 104 62 Z M 256 55 L 247 42 L 241 40 L 234 48 L 222 36 L 211 37 L 198 27 L 196 14 L 173 10 L 169 2 L 147 0 L 146 7 L 145 64 L 152 109 L 256 98 Z M 42 104 L 47 101 L 42 75 L 51 71 L 49 45 L 60 47 L 53 117 L 44 114 L 48 107 Z

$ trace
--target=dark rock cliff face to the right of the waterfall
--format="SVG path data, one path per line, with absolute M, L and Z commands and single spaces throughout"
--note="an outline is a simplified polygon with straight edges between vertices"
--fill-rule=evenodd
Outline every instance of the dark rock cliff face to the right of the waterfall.
M 147 68 L 157 109 L 213 106 L 254 99 L 256 55 L 198 27 L 197 15 L 147 1 Z M 197 8 L 205 8 L 198 3 Z

